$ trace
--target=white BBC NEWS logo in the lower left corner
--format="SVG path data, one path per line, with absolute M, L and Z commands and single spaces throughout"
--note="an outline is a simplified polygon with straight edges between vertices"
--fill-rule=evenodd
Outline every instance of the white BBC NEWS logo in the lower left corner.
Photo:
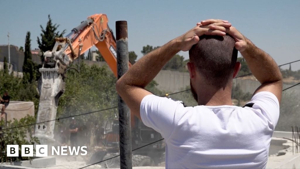
M 87 155 L 86 146 L 51 146 L 51 155 Z M 22 157 L 33 157 L 33 145 L 21 145 Z M 19 157 L 19 145 L 7 145 L 7 157 Z M 36 157 L 48 157 L 48 145 L 35 145 Z

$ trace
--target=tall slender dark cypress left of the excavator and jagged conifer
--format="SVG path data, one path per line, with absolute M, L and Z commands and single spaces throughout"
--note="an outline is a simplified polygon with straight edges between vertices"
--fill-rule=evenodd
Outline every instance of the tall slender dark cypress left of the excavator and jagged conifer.
M 30 32 L 26 33 L 25 39 L 25 52 L 24 52 L 24 63 L 23 63 L 23 80 L 24 82 L 33 81 L 36 79 L 35 63 L 32 62 L 31 54 L 31 39 Z

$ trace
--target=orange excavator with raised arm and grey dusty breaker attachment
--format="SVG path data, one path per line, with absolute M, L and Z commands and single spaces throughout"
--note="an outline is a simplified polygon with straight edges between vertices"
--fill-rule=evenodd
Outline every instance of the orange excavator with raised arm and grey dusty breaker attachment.
M 39 79 L 38 91 L 40 93 L 40 101 L 38 106 L 37 124 L 35 126 L 34 136 L 38 137 L 41 144 L 54 143 L 54 125 L 56 118 L 57 106 L 59 97 L 65 91 L 65 77 L 67 71 L 75 69 L 71 67 L 74 60 L 78 60 L 79 70 L 79 56 L 95 46 L 100 51 L 104 60 L 107 62 L 113 74 L 117 77 L 117 61 L 116 61 L 116 39 L 113 31 L 108 26 L 108 18 L 105 14 L 94 14 L 81 22 L 81 24 L 69 33 L 66 37 L 55 39 L 55 45 L 52 51 L 44 51 L 44 62 L 40 69 L 41 78 Z M 129 67 L 131 64 L 129 63 Z M 46 121 L 46 122 L 44 122 Z M 149 141 L 156 141 L 161 135 L 151 128 L 147 128 L 136 117 L 131 117 L 132 121 L 132 136 L 133 148 L 148 143 Z M 137 125 L 135 125 L 137 124 Z M 115 121 L 115 126 L 119 125 Z M 147 129 L 145 129 L 145 127 Z M 115 137 L 119 137 L 119 127 L 114 128 Z M 149 136 L 148 136 L 149 135 Z M 147 141 L 148 140 L 148 141 Z M 118 144 L 113 144 L 118 149 Z M 164 152 L 164 146 L 157 146 Z M 145 152 L 137 153 L 139 159 L 148 159 L 146 161 L 157 161 L 146 156 L 149 154 L 149 149 L 143 149 Z M 162 153 L 163 153 L 162 152 Z M 104 155 L 108 152 L 104 152 Z M 116 152 L 118 153 L 118 152 Z M 155 155 L 153 155 L 155 156 Z M 104 156 L 103 156 L 104 157 Z M 102 158 L 103 158 L 102 157 Z M 137 157 L 137 156 L 135 156 Z M 134 159 L 134 158 L 133 158 Z M 97 160 L 101 160 L 97 158 Z M 148 164 L 147 162 L 144 164 Z M 136 164 L 141 165 L 141 163 Z M 108 166 L 108 165 L 107 165 Z

